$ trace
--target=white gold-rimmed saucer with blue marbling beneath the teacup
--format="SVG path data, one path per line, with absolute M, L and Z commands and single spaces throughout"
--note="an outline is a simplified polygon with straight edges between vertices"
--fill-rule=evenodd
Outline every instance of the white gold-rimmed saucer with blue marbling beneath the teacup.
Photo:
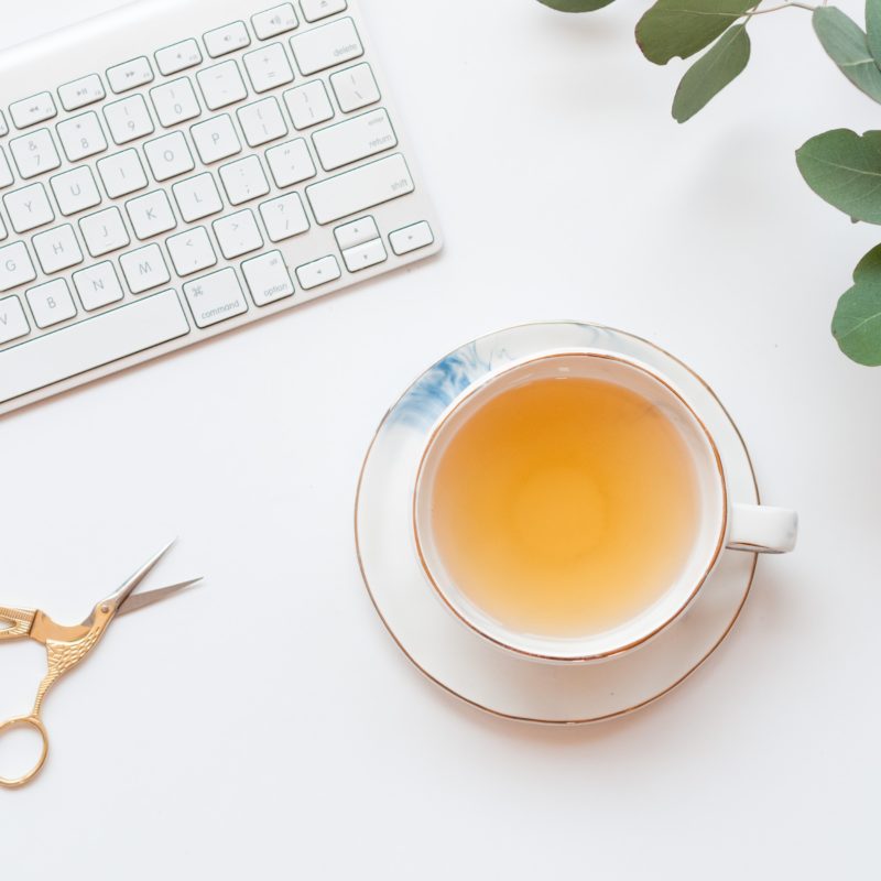
M 548 349 L 602 349 L 665 373 L 706 414 L 731 501 L 758 503 L 752 465 L 737 427 L 709 387 L 685 365 L 645 340 L 607 327 L 523 325 L 457 349 L 423 373 L 389 411 L 358 487 L 358 557 L 389 632 L 438 685 L 499 716 L 552 724 L 599 721 L 645 706 L 706 661 L 740 613 L 755 555 L 725 552 L 685 614 L 649 643 L 601 663 L 561 665 L 521 659 L 455 618 L 432 588 L 415 550 L 412 493 L 423 447 L 437 416 L 471 383 Z

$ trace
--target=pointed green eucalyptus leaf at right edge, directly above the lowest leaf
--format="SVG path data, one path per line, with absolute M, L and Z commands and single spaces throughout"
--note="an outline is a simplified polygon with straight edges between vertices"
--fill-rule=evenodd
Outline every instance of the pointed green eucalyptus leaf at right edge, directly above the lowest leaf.
M 835 129 L 795 153 L 798 171 L 823 199 L 853 220 L 881 224 L 881 131 Z

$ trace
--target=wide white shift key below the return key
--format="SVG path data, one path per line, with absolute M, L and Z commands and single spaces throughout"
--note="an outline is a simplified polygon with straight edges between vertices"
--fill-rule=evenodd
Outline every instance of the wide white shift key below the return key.
M 306 187 L 315 219 L 333 224 L 415 189 L 404 157 L 395 153 Z

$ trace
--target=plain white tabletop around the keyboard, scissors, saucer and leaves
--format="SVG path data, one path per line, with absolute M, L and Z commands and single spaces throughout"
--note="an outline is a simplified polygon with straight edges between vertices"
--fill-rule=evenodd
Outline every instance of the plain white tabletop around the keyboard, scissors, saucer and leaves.
M 111 6 L 8 4 L 2 41 Z M 877 877 L 881 373 L 828 325 L 881 231 L 815 197 L 793 151 L 881 108 L 800 10 L 757 20 L 747 74 L 679 127 L 683 66 L 633 43 L 648 2 L 363 6 L 444 254 L 0 422 L 0 600 L 78 620 L 175 534 L 160 575 L 208 577 L 120 621 L 51 695 L 50 765 L 0 792 L 2 878 Z M 803 531 L 683 687 L 561 730 L 424 681 L 370 605 L 351 521 L 416 373 L 566 317 L 703 373 Z M 42 663 L 3 648 L 0 718 Z

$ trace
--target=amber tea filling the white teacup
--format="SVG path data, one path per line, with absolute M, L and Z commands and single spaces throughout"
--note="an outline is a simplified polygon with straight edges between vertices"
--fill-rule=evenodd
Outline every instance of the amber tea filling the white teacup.
M 578 637 L 632 619 L 684 567 L 699 516 L 679 429 L 603 379 L 501 391 L 459 426 L 434 474 L 448 575 L 519 631 Z

